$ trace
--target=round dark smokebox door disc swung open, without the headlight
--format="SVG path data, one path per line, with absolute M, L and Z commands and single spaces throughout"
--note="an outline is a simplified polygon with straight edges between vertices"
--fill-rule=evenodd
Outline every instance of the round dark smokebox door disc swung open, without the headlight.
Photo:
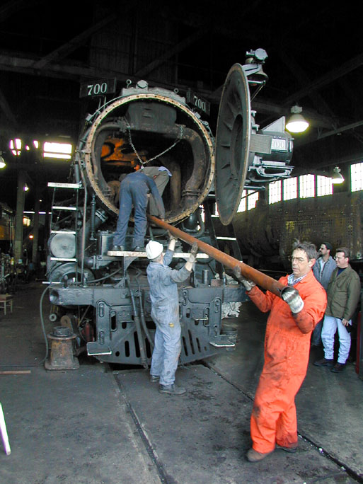
M 221 223 L 236 214 L 248 171 L 250 91 L 241 64 L 227 74 L 219 104 L 216 137 L 216 199 Z

